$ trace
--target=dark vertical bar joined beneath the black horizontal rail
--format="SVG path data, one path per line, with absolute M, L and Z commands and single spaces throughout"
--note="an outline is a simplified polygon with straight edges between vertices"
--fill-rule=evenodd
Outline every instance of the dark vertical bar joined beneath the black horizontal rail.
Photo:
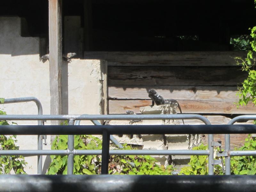
M 108 174 L 109 141 L 110 135 L 104 130 L 102 133 L 101 174 Z

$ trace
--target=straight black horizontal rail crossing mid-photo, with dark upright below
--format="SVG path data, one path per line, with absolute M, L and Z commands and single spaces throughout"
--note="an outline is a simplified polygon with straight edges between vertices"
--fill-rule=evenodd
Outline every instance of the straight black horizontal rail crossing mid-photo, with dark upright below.
M 240 134 L 256 133 L 256 125 L 2 125 L 0 134 Z

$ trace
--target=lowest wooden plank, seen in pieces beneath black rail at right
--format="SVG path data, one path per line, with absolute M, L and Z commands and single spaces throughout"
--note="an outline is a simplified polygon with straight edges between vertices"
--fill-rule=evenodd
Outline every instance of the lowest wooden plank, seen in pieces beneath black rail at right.
M 230 148 L 234 149 L 242 147 L 244 145 L 245 139 L 248 137 L 248 134 L 230 134 Z M 224 134 L 215 134 L 213 135 L 213 140 L 221 140 L 221 149 L 225 149 L 225 135 Z M 202 141 L 205 145 L 208 145 L 208 135 L 202 135 Z

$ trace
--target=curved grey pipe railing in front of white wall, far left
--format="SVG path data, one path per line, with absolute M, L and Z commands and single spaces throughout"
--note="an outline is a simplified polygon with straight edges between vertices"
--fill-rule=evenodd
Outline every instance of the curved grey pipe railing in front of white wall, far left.
M 20 98 L 5 99 L 3 104 L 21 103 L 21 102 L 30 102 L 30 101 L 33 101 L 33 102 L 36 103 L 38 115 L 43 115 L 42 104 L 36 97 L 20 97 Z M 37 124 L 38 125 L 43 125 L 43 121 L 38 120 Z M 37 149 L 38 150 L 43 149 L 42 135 L 37 135 Z M 43 157 L 42 156 L 37 156 L 37 174 L 42 174 L 42 168 L 43 168 Z

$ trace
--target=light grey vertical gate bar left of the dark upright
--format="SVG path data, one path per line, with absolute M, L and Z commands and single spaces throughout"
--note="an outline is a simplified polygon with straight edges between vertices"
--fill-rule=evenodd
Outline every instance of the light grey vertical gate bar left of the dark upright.
M 68 125 L 74 125 L 74 119 L 69 119 Z M 74 135 L 68 135 L 68 151 L 74 150 Z M 72 175 L 74 172 L 74 154 L 68 154 L 68 175 Z

